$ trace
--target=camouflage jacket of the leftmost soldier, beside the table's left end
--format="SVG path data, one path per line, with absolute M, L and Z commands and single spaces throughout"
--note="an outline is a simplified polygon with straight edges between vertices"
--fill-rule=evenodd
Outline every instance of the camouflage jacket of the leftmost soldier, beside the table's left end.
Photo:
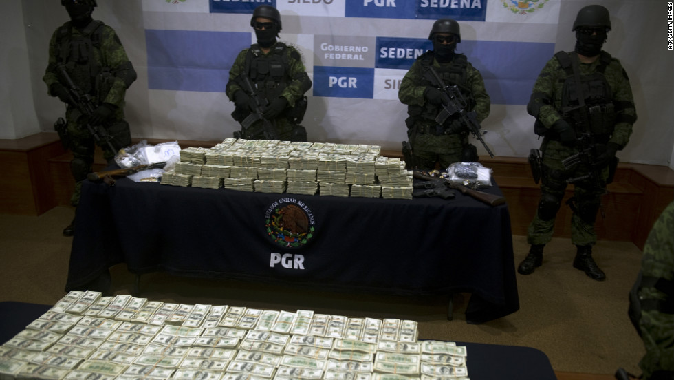
M 67 52 L 69 47 L 64 47 L 63 44 L 69 42 L 60 34 L 62 34 L 63 30 L 69 30 L 69 36 L 72 39 L 79 37 L 87 38 L 86 32 L 83 31 L 86 31 L 89 25 L 94 23 L 100 23 L 95 32 L 100 36 L 96 36 L 96 39 L 100 38 L 100 41 L 94 43 L 89 54 L 89 60 L 91 61 L 89 63 L 89 70 L 93 73 L 98 73 L 100 78 L 89 78 L 89 83 L 86 83 L 84 78 L 73 72 L 73 67 L 75 66 L 74 62 L 71 61 L 73 53 Z M 80 89 L 90 89 L 89 94 L 94 98 L 95 103 L 111 103 L 118 108 L 122 108 L 127 88 L 136 78 L 133 65 L 131 65 L 127 52 L 124 50 L 122 42 L 113 28 L 103 24 L 101 21 L 92 21 L 89 25 L 83 28 L 83 30 L 78 30 L 77 28 L 72 28 L 68 21 L 54 31 L 49 43 L 49 64 L 47 65 L 47 70 L 45 70 L 43 81 L 47 84 L 47 89 L 56 82 L 65 85 L 56 69 L 58 63 L 65 63 L 66 70 L 74 83 Z M 91 36 L 93 36 L 93 33 L 89 34 L 89 38 Z M 65 54 L 68 55 L 65 61 L 62 58 L 65 55 L 64 49 L 66 49 Z M 99 83 L 102 88 L 96 89 L 96 85 L 92 83 Z

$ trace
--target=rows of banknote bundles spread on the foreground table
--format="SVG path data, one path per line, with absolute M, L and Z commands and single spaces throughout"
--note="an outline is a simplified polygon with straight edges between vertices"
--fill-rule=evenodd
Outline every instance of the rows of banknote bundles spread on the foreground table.
M 72 291 L 0 346 L 1 379 L 468 379 L 417 322 Z

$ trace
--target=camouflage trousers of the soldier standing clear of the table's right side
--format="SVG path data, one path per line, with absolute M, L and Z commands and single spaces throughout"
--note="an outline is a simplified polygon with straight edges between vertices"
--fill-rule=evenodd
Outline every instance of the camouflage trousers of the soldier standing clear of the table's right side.
M 543 141 L 541 145 L 543 165 L 541 173 L 541 198 L 536 215 L 529 224 L 527 242 L 529 244 L 547 244 L 552 240 L 554 233 L 555 215 L 562 206 L 561 202 L 567 189 L 566 180 L 590 175 L 590 178 L 572 184 L 574 187 L 571 218 L 571 240 L 579 246 L 594 245 L 597 234 L 594 229 L 596 215 L 600 208 L 601 196 L 606 193 L 606 180 L 609 177 L 609 168 L 604 167 L 595 171 L 589 165 L 580 163 L 565 169 L 562 160 L 578 153 L 572 147 L 562 145 L 557 141 Z M 556 209 L 543 204 L 558 202 Z M 543 213 L 543 216 L 541 215 Z M 551 215 L 552 214 L 552 215 Z

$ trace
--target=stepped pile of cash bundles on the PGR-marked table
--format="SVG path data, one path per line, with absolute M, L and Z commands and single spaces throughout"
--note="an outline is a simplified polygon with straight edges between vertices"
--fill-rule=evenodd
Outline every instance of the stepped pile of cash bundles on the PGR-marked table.
M 180 150 L 161 183 L 321 196 L 412 198 L 412 173 L 378 145 L 226 138 Z

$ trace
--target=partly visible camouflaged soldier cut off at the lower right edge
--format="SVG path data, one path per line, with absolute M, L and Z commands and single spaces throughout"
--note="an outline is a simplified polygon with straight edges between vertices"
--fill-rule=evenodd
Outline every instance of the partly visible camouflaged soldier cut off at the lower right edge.
M 674 379 L 674 202 L 646 240 L 629 311 L 646 348 L 639 363 L 642 379 Z

